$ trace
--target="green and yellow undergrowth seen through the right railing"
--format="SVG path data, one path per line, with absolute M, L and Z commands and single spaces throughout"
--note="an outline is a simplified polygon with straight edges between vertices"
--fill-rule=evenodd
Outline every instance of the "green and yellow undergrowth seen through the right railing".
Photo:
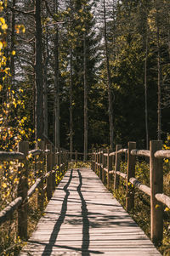
M 164 193 L 170 196 L 170 166 L 164 165 Z M 121 163 L 121 172 L 127 173 L 127 163 Z M 147 162 L 137 162 L 135 168 L 135 177 L 144 184 L 150 186 L 150 167 Z M 116 199 L 126 208 L 126 181 L 120 178 L 120 185 L 116 191 L 112 191 Z M 146 236 L 150 237 L 150 196 L 142 191 L 135 189 L 135 205 L 130 212 L 131 217 L 140 226 Z M 170 211 L 164 206 L 163 213 L 163 240 L 157 246 L 157 249 L 163 256 L 170 256 Z

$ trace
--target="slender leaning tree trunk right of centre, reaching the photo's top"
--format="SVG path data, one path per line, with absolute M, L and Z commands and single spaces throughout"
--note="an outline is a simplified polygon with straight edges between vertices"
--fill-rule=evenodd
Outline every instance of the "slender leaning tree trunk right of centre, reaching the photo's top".
M 108 44 L 107 44 L 107 24 L 106 24 L 106 11 L 105 11 L 105 0 L 103 1 L 104 5 L 104 39 L 105 39 L 105 59 L 106 59 L 106 69 L 107 69 L 107 87 L 108 87 L 108 112 L 109 112 L 109 123 L 110 123 L 110 144 L 111 149 L 113 149 L 113 107 L 112 107 L 112 96 L 111 96 L 111 70 L 110 70 L 110 61 L 108 53 Z

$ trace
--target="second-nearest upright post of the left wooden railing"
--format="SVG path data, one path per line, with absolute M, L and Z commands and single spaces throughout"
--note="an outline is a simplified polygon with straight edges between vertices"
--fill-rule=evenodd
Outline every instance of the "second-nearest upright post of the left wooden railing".
M 45 148 L 44 141 L 37 141 L 37 148 L 40 150 L 44 150 Z M 38 178 L 41 178 L 42 181 L 40 185 L 38 186 L 38 192 L 37 192 L 37 207 L 42 211 L 43 210 L 43 174 L 44 174 L 44 155 L 43 153 L 39 156 L 39 168 L 38 168 Z

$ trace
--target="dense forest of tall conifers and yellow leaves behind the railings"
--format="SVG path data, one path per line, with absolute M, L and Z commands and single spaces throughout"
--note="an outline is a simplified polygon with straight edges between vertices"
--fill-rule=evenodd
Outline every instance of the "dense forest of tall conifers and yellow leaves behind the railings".
M 0 10 L 3 149 L 167 138 L 169 0 L 8 0 Z

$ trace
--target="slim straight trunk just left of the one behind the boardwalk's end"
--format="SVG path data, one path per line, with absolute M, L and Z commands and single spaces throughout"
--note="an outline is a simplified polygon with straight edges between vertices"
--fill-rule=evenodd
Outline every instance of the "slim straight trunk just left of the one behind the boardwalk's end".
M 70 48 L 70 58 L 71 58 L 71 71 L 70 71 L 70 152 L 73 151 L 73 122 L 72 122 L 72 100 L 73 100 L 73 91 L 72 91 L 72 48 Z M 72 159 L 72 153 L 71 153 Z

